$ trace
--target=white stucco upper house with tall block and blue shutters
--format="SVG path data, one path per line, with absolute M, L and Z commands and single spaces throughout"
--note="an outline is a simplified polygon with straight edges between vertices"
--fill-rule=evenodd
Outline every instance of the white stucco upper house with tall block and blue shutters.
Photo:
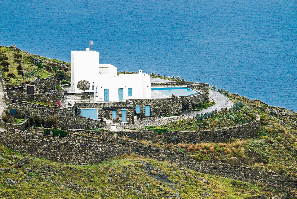
M 151 98 L 151 79 L 148 74 L 140 70 L 137 74 L 117 75 L 117 71 L 111 64 L 99 64 L 99 53 L 96 51 L 90 51 L 89 48 L 86 51 L 71 51 L 71 86 L 75 93 L 82 92 L 77 88 L 78 81 L 87 80 L 90 89 L 86 92 L 94 92 L 96 101 L 106 101 L 107 93 L 108 101 Z M 120 95 L 123 93 L 122 98 L 119 98 L 119 92 Z

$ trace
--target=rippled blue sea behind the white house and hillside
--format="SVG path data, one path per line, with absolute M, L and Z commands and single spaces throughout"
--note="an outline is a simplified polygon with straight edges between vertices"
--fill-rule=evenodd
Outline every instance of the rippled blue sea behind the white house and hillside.
M 180 76 L 297 111 L 296 0 L 2 0 L 0 45 Z

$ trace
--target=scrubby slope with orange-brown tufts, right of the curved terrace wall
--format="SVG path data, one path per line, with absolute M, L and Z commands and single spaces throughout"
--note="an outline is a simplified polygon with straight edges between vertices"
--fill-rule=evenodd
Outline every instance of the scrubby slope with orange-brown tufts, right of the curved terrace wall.
M 233 165 L 243 165 L 276 173 L 297 175 L 297 114 L 293 116 L 275 115 L 266 112 L 267 106 L 261 101 L 252 101 L 245 97 L 232 95 L 232 100 L 241 100 L 261 116 L 261 127 L 255 136 L 245 140 L 230 140 L 228 143 L 204 142 L 197 144 L 165 144 L 165 149 L 187 155 L 207 155 L 206 160 L 221 161 Z M 207 122 L 215 119 L 208 119 Z M 284 124 L 279 124 L 283 120 Z M 229 121 L 230 122 L 230 121 Z M 192 124 L 191 124 L 192 125 Z M 191 125 L 185 125 L 186 130 Z M 195 127 L 195 125 L 192 125 Z M 200 126 L 198 126 L 199 128 Z M 197 151 L 199 153 L 197 153 Z

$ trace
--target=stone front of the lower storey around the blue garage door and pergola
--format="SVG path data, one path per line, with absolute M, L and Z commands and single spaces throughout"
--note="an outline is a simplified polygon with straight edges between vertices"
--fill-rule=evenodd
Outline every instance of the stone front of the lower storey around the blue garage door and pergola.
M 78 115 L 81 115 L 81 109 L 94 108 L 98 109 L 98 120 L 105 118 L 105 110 L 103 107 L 131 107 L 132 102 L 97 102 L 97 103 L 76 103 Z M 113 122 L 121 122 L 121 111 L 117 111 L 117 119 L 111 119 L 111 110 L 106 111 L 107 120 L 113 120 Z M 132 122 L 132 110 L 127 110 L 127 122 Z

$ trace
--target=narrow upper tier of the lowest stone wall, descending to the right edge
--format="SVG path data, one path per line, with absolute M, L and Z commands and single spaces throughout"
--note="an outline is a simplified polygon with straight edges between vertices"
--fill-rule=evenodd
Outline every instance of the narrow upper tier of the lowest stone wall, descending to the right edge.
M 201 169 L 204 169 L 205 172 L 203 173 L 212 172 L 214 175 L 216 175 L 216 172 L 221 172 L 221 173 L 236 175 L 239 177 L 244 177 L 244 172 L 245 172 L 247 179 L 261 180 L 264 182 L 280 184 L 280 185 L 285 185 L 289 187 L 294 187 L 295 186 L 294 182 L 297 180 L 297 176 L 271 173 L 268 171 L 262 171 L 254 168 L 233 166 L 233 165 L 224 164 L 220 162 L 213 162 L 213 161 L 197 162 L 187 155 L 180 155 L 171 151 L 152 148 L 145 144 L 141 144 L 135 141 L 127 141 L 121 138 L 114 138 L 114 137 L 103 136 L 98 134 L 92 135 L 90 137 L 78 135 L 78 134 L 72 134 L 72 133 L 70 134 L 71 134 L 70 136 L 73 136 L 74 138 L 63 138 L 63 140 L 67 140 L 67 142 L 70 142 L 70 143 L 81 142 L 81 143 L 87 144 L 89 142 L 90 144 L 94 144 L 94 143 L 110 144 L 110 145 L 113 145 L 115 148 L 118 147 L 120 149 L 124 149 L 132 153 L 136 152 L 141 155 L 149 155 L 159 160 L 163 160 L 163 161 L 170 160 L 175 163 L 184 164 L 187 167 L 195 166 L 193 167 L 194 170 L 203 172 L 201 171 Z M 37 138 L 37 139 L 44 139 L 46 137 L 45 135 L 36 135 L 36 134 L 31 134 L 31 135 L 33 138 Z M 96 136 L 101 136 L 101 138 L 98 138 Z M 50 138 L 45 138 L 45 139 L 53 139 L 53 140 L 61 139 L 59 137 L 58 138 L 52 138 L 52 137 L 55 137 L 55 136 L 50 136 Z

